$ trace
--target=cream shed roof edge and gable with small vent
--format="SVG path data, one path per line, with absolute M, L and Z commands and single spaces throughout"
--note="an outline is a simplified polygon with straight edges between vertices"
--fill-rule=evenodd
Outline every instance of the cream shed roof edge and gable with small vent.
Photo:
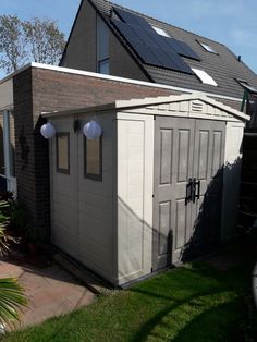
M 167 106 L 168 105 L 168 106 Z M 180 107 L 180 105 L 182 105 Z M 146 111 L 139 111 L 142 108 Z M 216 101 L 201 93 L 193 93 L 191 95 L 171 95 L 161 97 L 148 97 L 143 99 L 131 100 L 118 100 L 111 103 L 105 103 L 100 106 L 93 106 L 78 109 L 69 109 L 64 111 L 54 111 L 49 113 L 42 113 L 44 118 L 56 118 L 63 115 L 74 115 L 84 113 L 101 113 L 117 111 L 128 111 L 131 113 L 143 113 L 152 115 L 178 115 L 178 112 L 184 112 L 185 117 L 193 115 L 207 115 L 212 117 L 216 120 L 228 121 L 248 121 L 249 117 L 235 110 L 229 106 L 225 106 L 219 101 Z M 224 113 L 227 115 L 224 115 Z

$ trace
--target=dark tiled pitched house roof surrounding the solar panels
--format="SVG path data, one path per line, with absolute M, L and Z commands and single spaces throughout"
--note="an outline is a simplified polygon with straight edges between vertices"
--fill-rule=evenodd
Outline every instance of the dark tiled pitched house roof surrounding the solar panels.
M 112 32 L 119 37 L 120 41 L 133 56 L 136 62 L 145 69 L 149 78 L 155 83 L 178 86 L 197 91 L 207 91 L 210 94 L 225 95 L 235 98 L 243 98 L 244 88 L 236 80 L 244 81 L 252 87 L 257 87 L 257 75 L 224 45 L 199 35 L 193 34 L 185 29 L 163 23 L 156 19 L 149 17 L 142 13 L 124 9 L 121 5 L 111 3 L 106 0 L 88 0 L 105 19 Z M 150 25 L 164 29 L 172 38 L 184 41 L 189 46 L 200 58 L 196 61 L 189 58 L 182 57 L 191 68 L 204 70 L 218 84 L 218 86 L 203 84 L 199 78 L 193 74 L 186 74 L 178 71 L 172 71 L 163 68 L 144 64 L 136 56 L 135 51 L 130 47 L 115 26 L 111 23 L 113 7 L 125 10 L 132 14 L 139 15 L 145 19 Z M 217 53 L 207 51 L 200 44 L 204 42 L 212 48 Z

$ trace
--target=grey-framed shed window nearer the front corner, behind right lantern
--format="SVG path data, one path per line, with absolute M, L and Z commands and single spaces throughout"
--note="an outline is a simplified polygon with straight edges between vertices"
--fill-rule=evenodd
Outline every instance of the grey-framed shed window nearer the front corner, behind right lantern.
M 87 139 L 85 137 L 85 178 L 102 180 L 102 138 Z

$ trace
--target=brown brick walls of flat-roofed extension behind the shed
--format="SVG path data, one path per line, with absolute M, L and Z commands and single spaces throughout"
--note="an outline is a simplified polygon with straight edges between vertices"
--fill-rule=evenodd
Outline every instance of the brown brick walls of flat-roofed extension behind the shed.
M 36 227 L 49 235 L 48 144 L 41 112 L 171 95 L 173 91 L 112 80 L 29 68 L 13 77 L 17 194 Z M 174 91 L 175 93 L 175 91 Z

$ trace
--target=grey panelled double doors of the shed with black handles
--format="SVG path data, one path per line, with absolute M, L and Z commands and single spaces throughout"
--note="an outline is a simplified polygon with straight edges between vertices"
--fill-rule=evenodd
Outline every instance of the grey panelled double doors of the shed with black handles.
M 225 123 L 156 118 L 152 270 L 219 242 Z

